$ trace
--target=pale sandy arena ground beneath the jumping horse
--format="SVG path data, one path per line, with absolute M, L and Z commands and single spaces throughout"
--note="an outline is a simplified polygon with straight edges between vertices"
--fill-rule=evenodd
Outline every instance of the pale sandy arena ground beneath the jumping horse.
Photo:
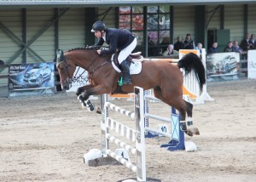
M 207 92 L 214 101 L 194 105 L 194 124 L 201 135 L 186 136 L 198 151 L 166 151 L 159 145 L 168 139 L 146 139 L 148 178 L 256 181 L 256 80 L 210 82 Z M 132 102 L 113 103 L 133 111 Z M 161 116 L 170 113 L 166 105 L 150 106 Z M 0 98 L 0 107 L 0 181 L 115 182 L 136 177 L 124 166 L 84 164 L 86 152 L 101 148 L 101 116 L 85 111 L 74 93 Z M 113 117 L 135 127 L 129 118 Z

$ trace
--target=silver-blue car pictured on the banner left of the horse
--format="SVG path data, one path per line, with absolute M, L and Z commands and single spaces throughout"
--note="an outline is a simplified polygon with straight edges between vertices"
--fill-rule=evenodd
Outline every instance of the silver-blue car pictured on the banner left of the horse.
M 51 72 L 47 64 L 34 65 L 25 72 L 23 82 L 28 86 L 41 86 L 45 80 L 50 79 Z

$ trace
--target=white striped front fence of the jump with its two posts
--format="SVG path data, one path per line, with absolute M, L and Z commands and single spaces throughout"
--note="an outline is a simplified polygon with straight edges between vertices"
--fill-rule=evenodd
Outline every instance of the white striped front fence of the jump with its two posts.
M 136 102 L 141 98 L 137 99 L 135 94 L 135 113 L 120 108 L 117 105 L 113 105 L 108 102 L 108 95 L 104 94 L 102 99 L 102 154 L 103 156 L 112 156 L 117 161 L 124 164 L 127 168 L 130 168 L 133 172 L 137 173 L 137 181 L 146 181 L 146 162 L 145 162 L 145 141 L 144 141 L 144 122 L 143 122 L 143 108 L 140 107 L 140 102 Z M 143 99 L 142 99 L 143 101 Z M 137 104 L 136 104 L 137 103 Z M 120 122 L 114 121 L 108 116 L 108 109 L 119 112 L 120 114 L 131 117 L 136 121 L 136 129 L 129 128 Z M 125 137 L 126 139 L 135 142 L 135 147 L 125 144 L 125 142 L 117 139 L 116 137 L 109 134 L 109 130 L 112 130 L 116 134 Z M 123 156 L 117 155 L 115 152 L 109 149 L 109 142 L 113 142 L 119 147 L 124 148 L 131 154 L 136 155 L 136 165 L 129 162 Z

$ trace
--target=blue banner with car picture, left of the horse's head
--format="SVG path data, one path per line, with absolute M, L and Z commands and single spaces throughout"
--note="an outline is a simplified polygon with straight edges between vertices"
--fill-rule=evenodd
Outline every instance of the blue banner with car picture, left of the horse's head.
M 9 96 L 54 94 L 55 63 L 9 65 Z

